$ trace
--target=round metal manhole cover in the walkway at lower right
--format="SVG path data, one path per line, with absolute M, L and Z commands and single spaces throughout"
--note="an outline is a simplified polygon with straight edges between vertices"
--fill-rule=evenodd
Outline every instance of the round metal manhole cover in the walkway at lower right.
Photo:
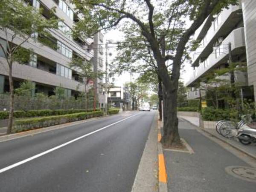
M 228 166 L 226 172 L 236 178 L 256 183 L 256 169 L 245 166 Z

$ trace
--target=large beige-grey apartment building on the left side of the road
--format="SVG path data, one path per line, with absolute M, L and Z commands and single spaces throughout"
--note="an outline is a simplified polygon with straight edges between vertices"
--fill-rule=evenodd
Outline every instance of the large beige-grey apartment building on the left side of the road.
M 35 93 L 43 92 L 53 95 L 56 86 L 65 89 L 67 97 L 76 96 L 85 91 L 84 80 L 79 78 L 76 70 L 70 69 L 69 63 L 73 57 L 79 56 L 84 60 L 92 60 L 97 57 L 94 49 L 89 49 L 93 43 L 99 44 L 103 39 L 73 39 L 70 35 L 73 25 L 81 18 L 74 6 L 67 0 L 25 0 L 36 9 L 43 9 L 42 17 L 49 18 L 50 9 L 55 7 L 55 16 L 62 19 L 58 23 L 58 29 L 51 29 L 51 41 L 55 46 L 44 46 L 30 39 L 23 44 L 26 49 L 33 49 L 28 63 L 15 64 L 13 66 L 14 86 L 17 88 L 20 82 L 30 80 L 35 83 Z M 0 30 L 0 43 L 6 46 L 6 35 Z M 16 41 L 20 39 L 17 37 Z M 97 51 L 96 51 L 97 52 Z M 2 50 L 0 50 L 0 93 L 9 92 L 8 67 Z M 93 60 L 94 61 L 94 60 Z M 93 65 L 99 65 L 93 62 Z M 97 70 L 97 67 L 94 67 Z M 97 83 L 97 82 L 96 82 Z M 96 86 L 96 92 L 98 87 Z M 105 103 L 105 102 L 102 102 Z

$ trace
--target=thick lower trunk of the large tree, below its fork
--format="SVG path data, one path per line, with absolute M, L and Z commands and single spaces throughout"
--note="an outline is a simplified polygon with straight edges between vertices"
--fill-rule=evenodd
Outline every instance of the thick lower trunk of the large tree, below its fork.
M 165 147 L 179 146 L 180 135 L 178 132 L 178 118 L 177 118 L 177 89 L 175 91 L 171 88 L 163 86 L 163 138 L 161 143 Z

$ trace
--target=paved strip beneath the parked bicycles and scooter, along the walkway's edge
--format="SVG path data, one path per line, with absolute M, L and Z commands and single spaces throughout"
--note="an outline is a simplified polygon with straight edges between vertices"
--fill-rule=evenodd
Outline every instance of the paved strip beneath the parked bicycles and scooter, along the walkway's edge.
M 188 121 L 189 123 L 192 123 L 193 125 L 197 126 L 199 128 L 199 118 L 198 117 L 187 117 L 187 116 L 179 116 L 181 119 Z M 215 138 L 218 138 L 225 143 L 230 144 L 231 146 L 235 147 L 236 149 L 240 150 L 241 152 L 246 153 L 247 155 L 253 157 L 256 159 L 256 143 L 252 143 L 250 145 L 243 145 L 239 142 L 237 138 L 224 138 L 223 136 L 219 135 L 215 129 L 203 129 L 204 132 L 209 133 Z

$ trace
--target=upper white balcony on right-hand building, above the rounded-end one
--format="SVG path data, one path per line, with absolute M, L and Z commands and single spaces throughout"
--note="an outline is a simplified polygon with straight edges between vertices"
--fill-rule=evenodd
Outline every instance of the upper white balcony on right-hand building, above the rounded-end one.
M 198 47 L 192 55 L 192 66 L 198 66 L 201 58 L 208 57 L 212 52 L 213 43 L 215 43 L 219 37 L 226 37 L 232 29 L 236 28 L 237 23 L 241 20 L 241 5 L 230 6 L 229 9 L 224 9 L 220 14 L 218 14 L 212 22 L 207 34 L 201 41 L 200 47 Z M 196 34 L 200 33 L 197 32 Z

